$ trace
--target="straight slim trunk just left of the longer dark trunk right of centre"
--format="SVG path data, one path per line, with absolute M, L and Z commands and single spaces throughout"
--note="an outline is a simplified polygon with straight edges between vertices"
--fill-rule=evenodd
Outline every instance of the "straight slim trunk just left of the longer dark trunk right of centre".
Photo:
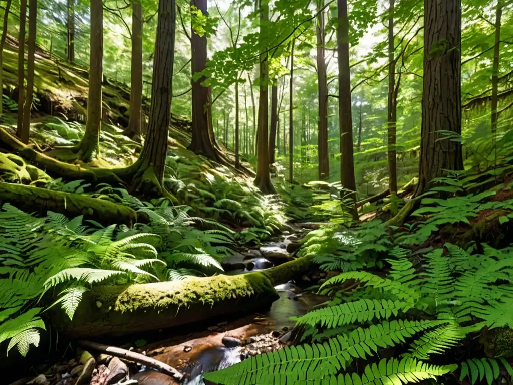
M 319 162 L 319 180 L 324 181 L 329 178 L 329 158 L 328 158 L 328 78 L 327 65 L 325 59 L 326 31 L 324 21 L 324 0 L 317 0 L 317 24 L 315 32 L 317 34 L 317 81 L 319 92 L 319 110 L 318 110 L 318 162 Z

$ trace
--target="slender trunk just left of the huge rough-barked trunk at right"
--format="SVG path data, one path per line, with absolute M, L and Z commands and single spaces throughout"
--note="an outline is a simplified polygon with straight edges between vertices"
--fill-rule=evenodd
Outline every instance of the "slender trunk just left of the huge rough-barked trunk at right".
M 396 98 L 396 59 L 393 34 L 394 0 L 390 0 L 388 9 L 388 115 L 387 115 L 387 151 L 388 151 L 388 187 L 390 195 L 397 194 L 397 155 L 396 155 L 396 122 L 397 122 L 397 98 Z M 395 214 L 392 205 L 392 214 Z

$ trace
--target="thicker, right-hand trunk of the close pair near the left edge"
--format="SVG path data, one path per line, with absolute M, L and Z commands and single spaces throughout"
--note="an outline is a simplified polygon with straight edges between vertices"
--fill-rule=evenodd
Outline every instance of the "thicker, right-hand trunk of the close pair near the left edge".
M 30 110 L 34 92 L 35 29 L 37 21 L 37 0 L 29 0 L 29 47 L 27 53 L 27 90 L 23 105 L 22 143 L 28 144 L 30 135 Z

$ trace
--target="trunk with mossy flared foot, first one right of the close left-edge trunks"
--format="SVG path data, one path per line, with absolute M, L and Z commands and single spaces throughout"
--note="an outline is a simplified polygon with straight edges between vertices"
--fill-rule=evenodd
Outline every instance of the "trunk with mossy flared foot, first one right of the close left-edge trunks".
M 103 80 L 103 4 L 91 0 L 91 36 L 89 56 L 89 92 L 87 95 L 86 132 L 72 151 L 88 163 L 100 156 L 100 129 L 102 127 Z M 167 141 L 166 141 L 167 142 Z

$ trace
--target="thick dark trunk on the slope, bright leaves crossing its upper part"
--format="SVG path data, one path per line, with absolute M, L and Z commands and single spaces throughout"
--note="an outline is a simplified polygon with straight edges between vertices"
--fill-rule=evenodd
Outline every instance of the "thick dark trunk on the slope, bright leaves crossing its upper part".
M 207 0 L 191 0 L 191 6 L 208 15 Z M 194 75 L 207 66 L 207 35 L 200 36 L 192 28 L 191 46 L 191 72 Z M 220 162 L 212 123 L 211 88 L 201 85 L 205 80 L 205 76 L 192 80 L 192 141 L 189 150 Z

